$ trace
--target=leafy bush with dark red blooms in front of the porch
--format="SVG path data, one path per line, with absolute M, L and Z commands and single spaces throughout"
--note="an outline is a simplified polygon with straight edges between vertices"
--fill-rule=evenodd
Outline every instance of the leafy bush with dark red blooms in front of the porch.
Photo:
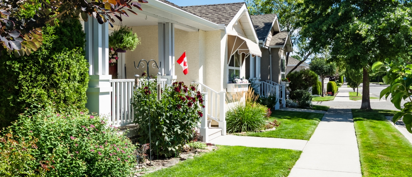
M 162 99 L 157 100 L 156 85 L 156 81 L 144 82 L 133 97 L 135 119 L 140 125 L 138 142 L 151 143 L 152 155 L 170 157 L 179 154 L 183 145 L 193 139 L 195 127 L 203 116 L 203 98 L 194 85 L 175 82 L 171 87 L 166 86 Z

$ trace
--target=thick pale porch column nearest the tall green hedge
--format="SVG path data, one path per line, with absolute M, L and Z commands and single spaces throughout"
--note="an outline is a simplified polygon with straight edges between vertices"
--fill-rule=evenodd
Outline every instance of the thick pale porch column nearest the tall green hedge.
M 89 61 L 89 88 L 86 91 L 86 108 L 91 113 L 109 115 L 111 110 L 109 75 L 109 27 L 108 23 L 99 24 L 89 16 L 84 22 L 86 33 L 86 59 Z

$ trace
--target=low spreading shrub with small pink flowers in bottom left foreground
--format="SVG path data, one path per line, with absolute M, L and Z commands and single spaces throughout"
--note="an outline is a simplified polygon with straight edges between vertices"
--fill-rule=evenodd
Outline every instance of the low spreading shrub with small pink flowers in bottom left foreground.
M 46 170 L 47 177 L 129 176 L 136 163 L 136 147 L 117 128 L 108 126 L 106 119 L 73 108 L 56 112 L 47 106 L 19 115 L 3 134 L 27 138 L 18 140 L 19 144 L 31 143 L 31 147 L 25 148 L 34 159 L 27 159 L 28 163 L 21 168 L 33 173 Z

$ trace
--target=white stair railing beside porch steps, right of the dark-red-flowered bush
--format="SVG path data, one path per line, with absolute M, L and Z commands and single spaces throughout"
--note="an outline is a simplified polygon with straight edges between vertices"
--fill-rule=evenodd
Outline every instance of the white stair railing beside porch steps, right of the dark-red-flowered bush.
M 226 91 L 216 92 L 202 83 L 193 82 L 192 84 L 197 85 L 197 90 L 204 95 L 203 100 L 205 108 L 203 108 L 200 129 L 204 141 L 208 141 L 207 120 L 209 119 L 218 122 L 219 128 L 222 129 L 222 135 L 226 135 Z

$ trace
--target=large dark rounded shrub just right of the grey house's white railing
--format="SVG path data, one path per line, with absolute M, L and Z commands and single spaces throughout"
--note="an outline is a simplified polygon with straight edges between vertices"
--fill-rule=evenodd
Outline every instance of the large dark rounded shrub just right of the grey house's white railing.
M 290 80 L 289 89 L 290 92 L 295 90 L 309 90 L 318 82 L 318 75 L 309 69 L 301 69 L 299 71 L 293 71 L 286 76 Z

